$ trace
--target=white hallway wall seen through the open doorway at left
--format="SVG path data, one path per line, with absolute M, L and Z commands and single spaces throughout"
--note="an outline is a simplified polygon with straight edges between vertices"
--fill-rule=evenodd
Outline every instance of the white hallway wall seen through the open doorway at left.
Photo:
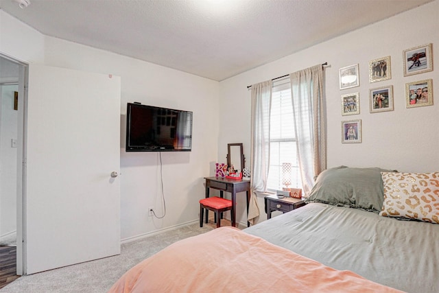
M 16 155 L 11 139 L 17 135 L 14 110 L 16 85 L 0 85 L 0 236 L 16 231 Z

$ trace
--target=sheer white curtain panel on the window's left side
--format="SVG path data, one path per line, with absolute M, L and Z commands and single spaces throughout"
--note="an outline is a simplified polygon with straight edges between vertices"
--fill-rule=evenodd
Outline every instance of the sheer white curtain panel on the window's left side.
M 267 191 L 268 167 L 270 165 L 270 108 L 272 81 L 252 85 L 252 121 L 250 145 L 251 196 L 248 221 L 254 224 L 259 218 L 256 191 Z

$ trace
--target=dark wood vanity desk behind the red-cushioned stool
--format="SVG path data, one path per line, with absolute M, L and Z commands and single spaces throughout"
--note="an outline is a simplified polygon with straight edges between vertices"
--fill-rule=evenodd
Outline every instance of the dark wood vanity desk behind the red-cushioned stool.
M 225 177 L 204 177 L 206 179 L 206 198 L 209 198 L 209 190 L 211 188 L 218 189 L 219 194 L 223 197 L 223 191 L 230 192 L 232 194 L 232 226 L 236 226 L 236 194 L 238 192 L 246 191 L 247 196 L 247 214 L 248 203 L 250 202 L 250 180 L 234 180 Z M 206 219 L 208 218 L 209 211 L 206 211 Z M 217 219 L 219 221 L 219 219 Z M 247 221 L 247 226 L 250 226 L 250 222 Z

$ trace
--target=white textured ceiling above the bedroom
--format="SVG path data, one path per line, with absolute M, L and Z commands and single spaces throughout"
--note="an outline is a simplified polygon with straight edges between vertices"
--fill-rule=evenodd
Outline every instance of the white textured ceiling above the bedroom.
M 47 35 L 224 80 L 431 0 L 29 0 Z

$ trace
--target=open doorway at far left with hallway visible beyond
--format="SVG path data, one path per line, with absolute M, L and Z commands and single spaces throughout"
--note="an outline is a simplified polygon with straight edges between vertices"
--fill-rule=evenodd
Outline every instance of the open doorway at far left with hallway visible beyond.
M 0 54 L 0 288 L 23 274 L 25 65 Z

